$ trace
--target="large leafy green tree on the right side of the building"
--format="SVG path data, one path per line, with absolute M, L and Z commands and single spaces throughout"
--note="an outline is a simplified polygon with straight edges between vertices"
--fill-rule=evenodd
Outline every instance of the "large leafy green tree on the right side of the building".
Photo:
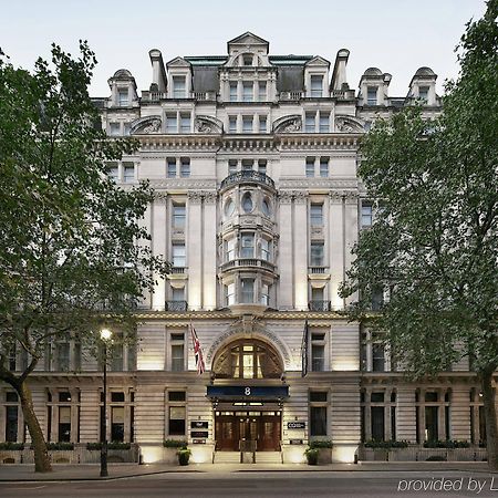
M 376 221 L 353 249 L 342 294 L 421 377 L 468 356 L 480 380 L 490 468 L 498 468 L 498 13 L 487 3 L 457 48 L 460 72 L 433 121 L 412 106 L 378 121 L 359 168 Z M 388 294 L 380 313 L 372 298 Z

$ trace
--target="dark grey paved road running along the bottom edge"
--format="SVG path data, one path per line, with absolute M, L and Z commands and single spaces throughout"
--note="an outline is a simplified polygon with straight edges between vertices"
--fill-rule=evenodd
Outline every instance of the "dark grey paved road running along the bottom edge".
M 167 474 L 107 481 L 0 483 L 0 496 L 2 498 L 402 496 L 498 498 L 498 475 L 494 479 L 485 473 L 467 471 Z

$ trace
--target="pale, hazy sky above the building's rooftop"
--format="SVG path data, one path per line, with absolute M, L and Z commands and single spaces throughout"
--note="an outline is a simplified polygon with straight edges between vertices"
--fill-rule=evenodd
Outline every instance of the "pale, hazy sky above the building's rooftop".
M 321 55 L 332 66 L 349 49 L 352 89 L 376 66 L 393 75 L 390 95 L 405 96 L 427 65 L 442 94 L 458 74 L 454 49 L 465 23 L 485 10 L 485 0 L 0 0 L 0 48 L 15 66 L 32 69 L 38 56 L 49 59 L 52 42 L 76 54 L 79 40 L 87 40 L 98 61 L 90 94 L 107 96 L 118 69 L 148 89 L 151 49 L 165 62 L 225 55 L 227 41 L 251 31 L 270 42 L 270 54 Z

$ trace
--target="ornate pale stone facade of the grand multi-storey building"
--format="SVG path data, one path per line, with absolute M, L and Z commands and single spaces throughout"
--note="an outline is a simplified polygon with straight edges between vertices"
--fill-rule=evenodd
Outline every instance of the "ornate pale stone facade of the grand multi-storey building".
M 95 100 L 111 137 L 139 141 L 108 172 L 122 188 L 154 187 L 143 222 L 154 253 L 173 263 L 139 305 L 137 345 L 113 346 L 107 439 L 136 443 L 143 461 L 160 460 L 165 439 L 188 440 L 194 461 L 219 461 L 241 442 L 284 461 L 302 460 L 313 439 L 331 440 L 335 461 L 353 461 L 370 439 L 477 446 L 483 408 L 468 364 L 408 382 L 369 330 L 347 322 L 338 293 L 375 217 L 356 176 L 359 139 L 415 101 L 437 114 L 436 75 L 421 68 L 407 96 L 393 97 L 391 74 L 376 68 L 350 89 L 347 50 L 333 65 L 272 55 L 249 32 L 227 49 L 167 64 L 151 50 L 149 90 L 138 95 L 120 70 L 111 96 Z M 76 342 L 53 353 L 31 381 L 48 439 L 100 440 L 101 366 Z M 0 442 L 24 440 L 15 393 L 1 385 L 0 400 Z

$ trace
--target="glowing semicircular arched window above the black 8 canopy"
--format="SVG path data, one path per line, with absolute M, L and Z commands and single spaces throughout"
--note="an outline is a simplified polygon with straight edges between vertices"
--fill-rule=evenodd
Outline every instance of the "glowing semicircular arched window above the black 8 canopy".
M 231 342 L 217 355 L 212 371 L 217 378 L 279 378 L 283 365 L 269 344 L 242 339 Z

